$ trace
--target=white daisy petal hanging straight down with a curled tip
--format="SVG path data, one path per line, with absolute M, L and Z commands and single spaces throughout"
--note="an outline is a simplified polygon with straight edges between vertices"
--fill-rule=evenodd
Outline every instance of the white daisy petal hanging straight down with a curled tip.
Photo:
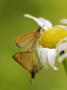
M 55 66 L 56 55 L 57 55 L 56 49 L 49 49 L 49 51 L 48 51 L 48 63 L 54 70 L 57 70 L 57 67 Z

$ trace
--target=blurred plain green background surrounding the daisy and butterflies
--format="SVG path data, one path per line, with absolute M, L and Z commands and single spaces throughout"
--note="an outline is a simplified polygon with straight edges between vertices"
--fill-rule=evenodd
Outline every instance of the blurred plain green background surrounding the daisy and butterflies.
M 12 59 L 20 51 L 14 39 L 38 27 L 25 13 L 60 24 L 60 18 L 67 18 L 67 0 L 0 0 L 0 90 L 67 90 L 62 64 L 57 72 L 40 71 L 31 85 L 29 73 Z

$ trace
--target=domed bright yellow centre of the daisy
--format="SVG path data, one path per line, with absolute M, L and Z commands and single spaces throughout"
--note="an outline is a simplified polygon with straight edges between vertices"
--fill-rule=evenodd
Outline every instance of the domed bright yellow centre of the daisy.
M 55 48 L 58 41 L 67 36 L 67 30 L 52 28 L 41 33 L 39 44 L 47 48 Z

